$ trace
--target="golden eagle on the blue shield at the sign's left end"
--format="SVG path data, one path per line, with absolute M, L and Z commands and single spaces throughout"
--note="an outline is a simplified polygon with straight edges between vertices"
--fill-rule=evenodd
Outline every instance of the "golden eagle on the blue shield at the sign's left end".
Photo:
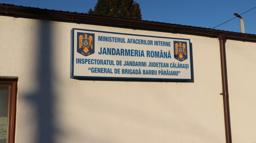
M 79 49 L 82 49 L 82 54 L 89 55 L 89 50 L 93 49 L 93 36 L 87 38 L 87 34 L 79 35 Z

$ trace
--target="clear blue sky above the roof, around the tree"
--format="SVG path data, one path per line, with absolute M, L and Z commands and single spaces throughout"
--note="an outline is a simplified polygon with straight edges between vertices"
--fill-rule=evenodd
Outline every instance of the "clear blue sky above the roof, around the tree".
M 213 28 L 231 18 L 235 12 L 242 14 L 256 7 L 256 0 L 136 0 L 142 20 L 159 21 Z M 0 3 L 86 13 L 97 0 L 0 0 Z M 256 34 L 256 8 L 243 14 L 245 33 Z M 219 30 L 240 32 L 239 18 L 234 18 Z

